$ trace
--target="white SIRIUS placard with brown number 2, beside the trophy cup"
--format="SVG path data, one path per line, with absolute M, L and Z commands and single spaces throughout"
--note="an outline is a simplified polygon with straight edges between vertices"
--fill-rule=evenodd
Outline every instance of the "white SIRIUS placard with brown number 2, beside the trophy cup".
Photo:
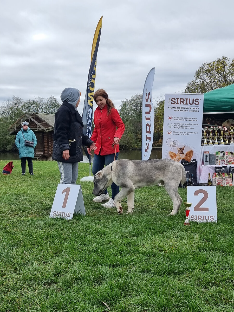
M 188 186 L 187 202 L 191 202 L 189 220 L 217 222 L 216 186 Z

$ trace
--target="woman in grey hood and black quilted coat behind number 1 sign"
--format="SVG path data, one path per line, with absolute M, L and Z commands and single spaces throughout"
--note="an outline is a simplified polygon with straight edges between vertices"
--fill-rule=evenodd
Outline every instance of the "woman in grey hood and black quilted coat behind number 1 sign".
M 78 162 L 83 160 L 82 144 L 96 149 L 95 143 L 83 135 L 84 125 L 77 111 L 80 95 L 75 88 L 64 89 L 60 96 L 63 104 L 55 114 L 52 158 L 58 163 L 63 184 L 76 184 Z

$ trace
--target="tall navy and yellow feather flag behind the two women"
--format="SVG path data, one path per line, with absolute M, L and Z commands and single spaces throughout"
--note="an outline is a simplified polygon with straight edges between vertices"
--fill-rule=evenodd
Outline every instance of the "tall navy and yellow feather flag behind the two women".
M 102 27 L 102 17 L 100 18 L 97 24 L 94 38 L 93 38 L 93 45 L 92 45 L 92 51 L 91 51 L 91 64 L 90 64 L 90 69 L 89 69 L 89 76 L 88 76 L 84 108 L 83 108 L 83 114 L 82 114 L 82 121 L 84 124 L 83 134 L 88 135 L 89 138 L 92 135 L 93 95 L 94 95 L 95 78 L 96 78 L 97 51 L 98 51 L 98 46 L 99 46 L 99 41 L 100 41 L 100 36 L 101 36 L 101 27 Z

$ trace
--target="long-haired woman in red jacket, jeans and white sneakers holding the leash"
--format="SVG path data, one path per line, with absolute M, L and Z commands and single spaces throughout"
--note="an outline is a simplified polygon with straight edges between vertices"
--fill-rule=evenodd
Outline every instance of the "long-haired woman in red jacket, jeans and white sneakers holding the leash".
M 124 133 L 124 123 L 119 116 L 118 110 L 115 109 L 113 102 L 108 98 L 108 94 L 105 90 L 99 89 L 93 96 L 98 107 L 94 112 L 94 131 L 91 136 L 91 140 L 96 142 L 96 150 L 94 151 L 92 173 L 95 175 L 99 170 L 104 168 L 104 165 L 109 165 L 119 156 L 119 140 Z M 117 130 L 116 130 L 117 128 Z M 113 149 L 112 144 L 116 144 Z M 91 155 L 91 150 L 88 148 L 88 153 Z M 114 198 L 119 193 L 119 186 L 115 183 L 111 184 L 111 198 L 107 190 L 104 194 L 97 196 L 93 199 L 94 202 L 102 202 L 109 200 L 103 207 L 111 208 L 116 207 Z

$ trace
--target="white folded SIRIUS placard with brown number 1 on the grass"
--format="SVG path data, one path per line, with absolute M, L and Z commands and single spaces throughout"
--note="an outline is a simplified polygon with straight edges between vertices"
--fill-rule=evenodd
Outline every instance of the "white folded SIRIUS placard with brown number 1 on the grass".
M 58 184 L 50 217 L 72 219 L 74 212 L 85 215 L 81 185 Z

